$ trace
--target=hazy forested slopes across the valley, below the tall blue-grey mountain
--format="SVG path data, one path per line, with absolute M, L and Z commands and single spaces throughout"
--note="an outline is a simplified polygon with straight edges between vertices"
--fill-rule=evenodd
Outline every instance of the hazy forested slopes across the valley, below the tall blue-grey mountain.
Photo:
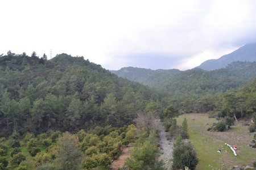
M 137 80 L 158 90 L 170 92 L 172 104 L 179 108 L 184 103 L 187 105 L 186 103 L 191 103 L 191 101 L 206 95 L 220 95 L 249 84 L 256 75 L 256 62 L 233 62 L 226 69 L 212 71 L 202 69 L 162 70 L 162 73 L 159 73 L 158 70 L 155 72 L 146 70 L 147 73 L 141 73 L 141 70 L 143 69 L 127 67 L 114 73 L 127 79 Z M 146 74 L 150 76 L 144 78 L 143 75 Z M 192 104 L 195 103 L 192 102 Z

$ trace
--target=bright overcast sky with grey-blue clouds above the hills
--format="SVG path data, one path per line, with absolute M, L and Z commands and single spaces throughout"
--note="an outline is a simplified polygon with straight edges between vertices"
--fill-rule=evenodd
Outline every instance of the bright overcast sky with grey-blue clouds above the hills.
M 187 70 L 256 42 L 256 1 L 0 0 L 0 54 Z

